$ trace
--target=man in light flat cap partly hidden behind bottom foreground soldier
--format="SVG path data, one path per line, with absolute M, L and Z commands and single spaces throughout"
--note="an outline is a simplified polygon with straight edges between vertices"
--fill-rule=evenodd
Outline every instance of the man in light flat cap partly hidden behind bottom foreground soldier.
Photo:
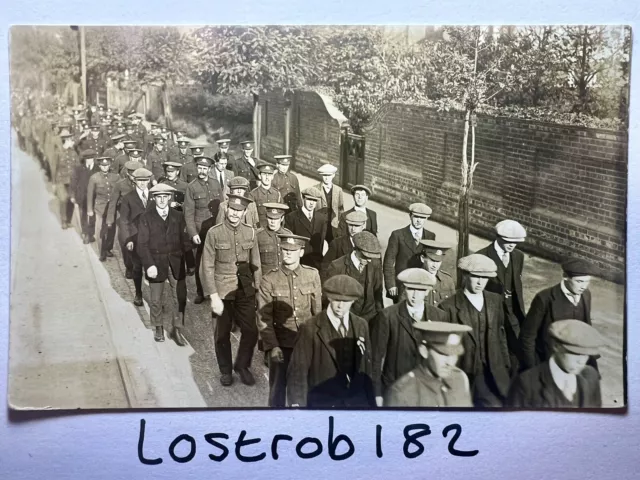
M 404 287 L 404 299 L 380 311 L 369 323 L 373 385 L 378 406 L 382 406 L 386 390 L 418 365 L 421 336 L 412 325 L 447 320 L 442 310 L 425 301 L 435 284 L 426 271 L 407 268 L 398 274 L 397 280 Z

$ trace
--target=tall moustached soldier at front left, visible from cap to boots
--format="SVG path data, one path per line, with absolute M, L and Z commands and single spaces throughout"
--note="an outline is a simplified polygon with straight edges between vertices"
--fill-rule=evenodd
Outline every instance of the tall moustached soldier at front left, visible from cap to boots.
M 262 270 L 256 232 L 242 223 L 243 211 L 249 202 L 246 197 L 229 195 L 226 218 L 209 230 L 200 263 L 203 292 L 211 296 L 216 358 L 224 386 L 233 383 L 232 318 L 241 331 L 233 369 L 245 385 L 255 383 L 249 367 L 258 340 L 255 297 Z

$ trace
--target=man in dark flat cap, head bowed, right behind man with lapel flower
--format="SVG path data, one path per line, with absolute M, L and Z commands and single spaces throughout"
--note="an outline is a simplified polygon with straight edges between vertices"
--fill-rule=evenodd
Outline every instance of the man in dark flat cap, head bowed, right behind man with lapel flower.
M 363 287 L 363 295 L 351 306 L 351 312 L 369 322 L 384 308 L 380 242 L 371 232 L 353 236 L 354 249 L 329 264 L 325 281 L 336 275 L 349 275 Z

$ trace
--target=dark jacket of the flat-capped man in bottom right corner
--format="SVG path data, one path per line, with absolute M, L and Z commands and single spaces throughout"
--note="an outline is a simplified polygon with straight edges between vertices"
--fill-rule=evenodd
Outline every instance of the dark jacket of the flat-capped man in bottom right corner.
M 577 376 L 578 405 L 573 405 L 562 394 L 553 381 L 549 361 L 541 363 L 518 375 L 507 398 L 506 406 L 515 408 L 599 408 L 602 407 L 600 395 L 600 376 L 598 372 L 585 366 Z

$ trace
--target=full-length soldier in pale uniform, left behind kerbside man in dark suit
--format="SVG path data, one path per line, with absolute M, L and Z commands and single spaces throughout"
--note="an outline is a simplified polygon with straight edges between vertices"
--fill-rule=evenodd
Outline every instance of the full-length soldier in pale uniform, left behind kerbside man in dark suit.
M 96 162 L 100 168 L 99 173 L 94 173 L 89 179 L 87 187 L 87 215 L 95 214 L 96 237 L 98 238 L 98 252 L 100 261 L 107 257 L 113 257 L 111 249 L 115 238 L 115 229 L 108 222 L 109 202 L 113 200 L 113 189 L 120 177 L 117 173 L 110 172 L 111 157 L 99 157 Z

